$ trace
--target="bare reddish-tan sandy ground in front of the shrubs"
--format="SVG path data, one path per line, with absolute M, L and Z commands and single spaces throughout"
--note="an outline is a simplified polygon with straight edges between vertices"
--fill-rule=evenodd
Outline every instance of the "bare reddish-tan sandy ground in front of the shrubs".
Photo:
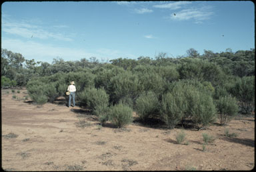
M 139 122 L 117 129 L 100 126 L 88 110 L 67 108 L 65 98 L 38 106 L 26 95 L 24 88 L 1 90 L 1 167 L 6 171 L 251 170 L 255 165 L 254 117 L 200 131 Z M 225 129 L 237 137 L 225 136 Z M 178 144 L 181 130 L 186 137 Z M 215 140 L 204 145 L 202 133 Z

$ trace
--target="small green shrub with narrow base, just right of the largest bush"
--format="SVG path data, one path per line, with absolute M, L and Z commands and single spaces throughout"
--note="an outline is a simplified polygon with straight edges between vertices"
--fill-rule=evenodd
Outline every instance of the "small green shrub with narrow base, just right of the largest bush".
M 219 112 L 219 120 L 221 125 L 227 124 L 233 116 L 237 115 L 237 100 L 232 96 L 220 97 L 217 100 L 217 110 Z

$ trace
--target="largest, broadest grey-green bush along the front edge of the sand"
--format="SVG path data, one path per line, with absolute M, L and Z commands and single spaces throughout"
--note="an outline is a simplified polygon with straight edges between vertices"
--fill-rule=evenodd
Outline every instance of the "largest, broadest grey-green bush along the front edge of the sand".
M 195 87 L 190 82 L 179 81 L 170 90 L 163 95 L 161 106 L 161 115 L 169 127 L 174 128 L 179 122 L 186 120 L 197 126 L 207 126 L 215 121 L 215 105 L 205 87 Z

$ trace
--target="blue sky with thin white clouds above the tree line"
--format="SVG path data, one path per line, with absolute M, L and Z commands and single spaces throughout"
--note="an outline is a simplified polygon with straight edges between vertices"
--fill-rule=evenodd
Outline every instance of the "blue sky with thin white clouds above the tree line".
M 1 13 L 1 48 L 49 63 L 255 48 L 252 1 L 21 1 Z

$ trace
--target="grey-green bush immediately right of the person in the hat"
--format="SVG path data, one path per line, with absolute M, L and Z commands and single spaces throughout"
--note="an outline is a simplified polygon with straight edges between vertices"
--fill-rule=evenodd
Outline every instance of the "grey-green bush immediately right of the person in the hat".
M 109 95 L 101 88 L 86 88 L 79 94 L 79 98 L 82 105 L 91 108 L 98 116 L 104 113 L 109 105 Z

